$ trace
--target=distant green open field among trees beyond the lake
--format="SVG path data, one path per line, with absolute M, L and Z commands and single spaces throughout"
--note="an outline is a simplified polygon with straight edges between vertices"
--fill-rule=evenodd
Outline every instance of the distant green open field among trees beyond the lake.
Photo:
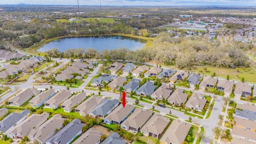
M 78 19 L 78 18 L 76 18 Z M 82 21 L 87 21 L 89 23 L 92 23 L 92 22 L 108 22 L 110 24 L 113 24 L 115 20 L 118 20 L 118 19 L 115 19 L 115 18 L 80 18 L 81 20 L 78 21 L 78 20 L 74 20 L 74 22 L 78 23 L 78 22 L 82 22 Z M 56 19 L 57 22 L 70 22 L 69 20 L 66 20 L 66 19 Z

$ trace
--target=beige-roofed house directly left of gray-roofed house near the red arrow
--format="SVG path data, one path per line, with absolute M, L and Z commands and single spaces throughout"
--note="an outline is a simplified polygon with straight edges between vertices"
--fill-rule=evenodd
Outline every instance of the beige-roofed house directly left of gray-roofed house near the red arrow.
M 96 106 L 98 106 L 102 102 L 102 98 L 94 95 L 79 104 L 78 107 L 75 108 L 75 111 L 80 114 L 80 116 L 86 116 L 90 111 L 92 111 Z

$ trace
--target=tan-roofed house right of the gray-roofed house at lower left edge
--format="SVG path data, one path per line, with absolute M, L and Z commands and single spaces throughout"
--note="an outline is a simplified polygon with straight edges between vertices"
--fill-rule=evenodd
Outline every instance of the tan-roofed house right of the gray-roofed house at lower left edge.
M 27 136 L 33 128 L 38 128 L 44 122 L 46 122 L 49 116 L 50 114 L 48 112 L 44 112 L 42 114 L 32 114 L 26 120 L 18 124 L 18 126 L 16 126 L 12 132 L 8 133 L 7 137 L 22 139 L 24 136 Z

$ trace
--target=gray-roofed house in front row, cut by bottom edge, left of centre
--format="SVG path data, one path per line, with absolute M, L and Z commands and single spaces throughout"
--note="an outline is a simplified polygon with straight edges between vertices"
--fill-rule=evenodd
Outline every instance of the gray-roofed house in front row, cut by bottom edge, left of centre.
M 82 134 L 82 127 L 84 124 L 81 124 L 81 120 L 78 118 L 72 120 L 61 130 L 59 130 L 54 136 L 48 139 L 46 144 L 70 144 L 76 136 Z

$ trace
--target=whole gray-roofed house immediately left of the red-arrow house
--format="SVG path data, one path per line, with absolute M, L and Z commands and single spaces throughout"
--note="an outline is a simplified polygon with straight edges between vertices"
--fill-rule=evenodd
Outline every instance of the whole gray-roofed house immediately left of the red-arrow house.
M 102 102 L 96 106 L 91 112 L 89 112 L 89 116 L 96 118 L 105 118 L 106 115 L 110 114 L 112 110 L 114 110 L 118 106 L 119 102 L 116 99 L 108 99 L 105 98 Z

